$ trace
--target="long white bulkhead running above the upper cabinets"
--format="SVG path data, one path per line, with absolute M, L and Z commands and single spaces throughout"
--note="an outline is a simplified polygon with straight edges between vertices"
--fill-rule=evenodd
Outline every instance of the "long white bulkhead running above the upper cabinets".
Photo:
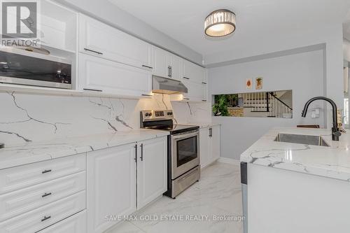
M 144 41 L 157 45 L 160 48 L 174 52 L 189 59 L 191 62 L 202 65 L 202 55 L 192 48 L 179 43 L 170 36 L 158 31 L 146 22 L 139 20 L 130 13 L 118 8 L 108 0 L 55 0 L 58 3 L 76 9 L 78 12 L 95 17 Z

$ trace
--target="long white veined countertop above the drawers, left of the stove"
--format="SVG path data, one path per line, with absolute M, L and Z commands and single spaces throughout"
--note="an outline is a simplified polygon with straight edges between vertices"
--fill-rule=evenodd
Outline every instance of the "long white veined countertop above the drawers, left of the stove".
M 52 160 L 58 157 L 76 155 L 127 143 L 135 143 L 160 136 L 169 132 L 161 130 L 139 129 L 111 134 L 94 134 L 55 141 L 36 141 L 21 145 L 10 145 L 0 149 L 0 169 L 15 167 L 32 162 Z

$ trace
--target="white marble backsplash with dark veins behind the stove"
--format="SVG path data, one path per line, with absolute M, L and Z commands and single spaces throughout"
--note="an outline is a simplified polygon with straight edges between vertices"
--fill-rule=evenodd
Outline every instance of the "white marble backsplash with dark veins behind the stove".
M 210 104 L 151 99 L 72 97 L 0 92 L 0 142 L 19 144 L 139 129 L 140 110 L 173 109 L 175 122 L 208 122 Z

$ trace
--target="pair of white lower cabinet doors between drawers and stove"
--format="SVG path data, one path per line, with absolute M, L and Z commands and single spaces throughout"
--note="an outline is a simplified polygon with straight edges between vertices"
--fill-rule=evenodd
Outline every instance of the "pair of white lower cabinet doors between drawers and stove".
M 108 230 L 165 191 L 167 136 L 87 153 L 87 232 Z

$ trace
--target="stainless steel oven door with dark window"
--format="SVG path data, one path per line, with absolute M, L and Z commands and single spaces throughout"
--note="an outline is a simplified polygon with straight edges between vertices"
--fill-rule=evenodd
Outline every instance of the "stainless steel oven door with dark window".
M 200 164 L 200 131 L 172 135 L 172 179 Z

